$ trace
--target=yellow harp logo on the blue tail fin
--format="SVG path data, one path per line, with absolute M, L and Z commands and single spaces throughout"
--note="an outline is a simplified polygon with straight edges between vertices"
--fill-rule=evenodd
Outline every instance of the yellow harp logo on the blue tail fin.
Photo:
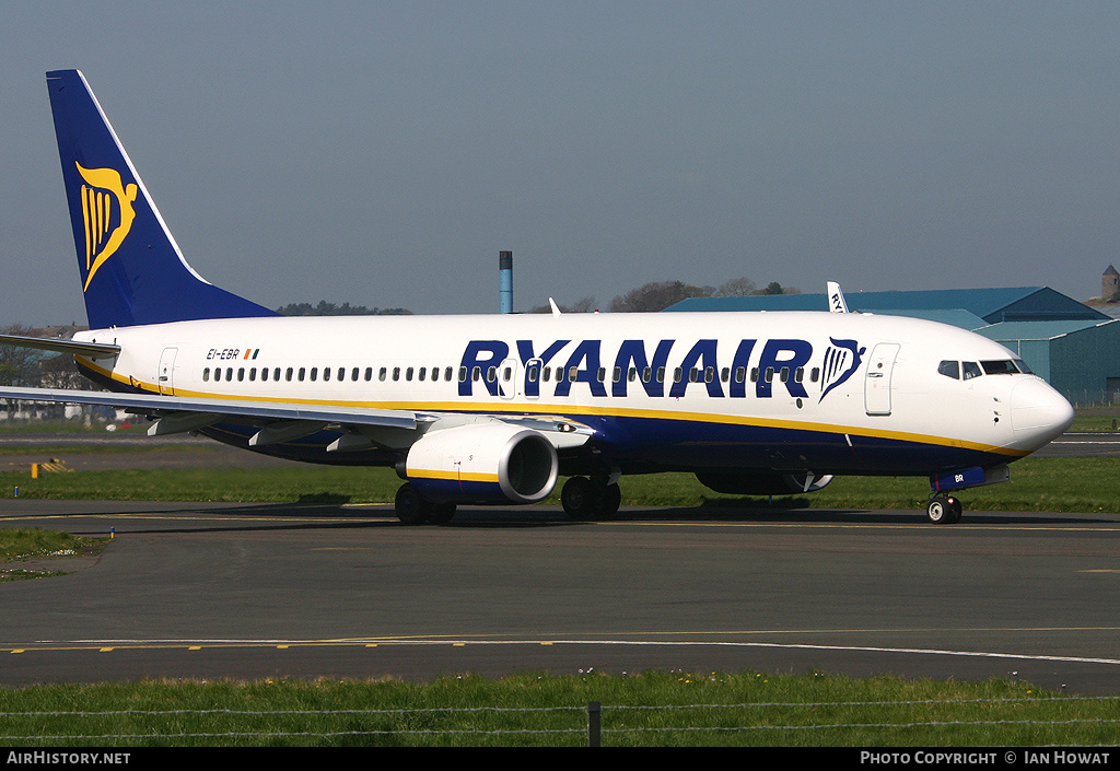
M 97 268 L 120 248 L 132 230 L 137 186 L 124 185 L 114 169 L 87 169 L 75 164 L 85 179 L 82 185 L 82 217 L 85 221 L 85 286 L 90 288 Z

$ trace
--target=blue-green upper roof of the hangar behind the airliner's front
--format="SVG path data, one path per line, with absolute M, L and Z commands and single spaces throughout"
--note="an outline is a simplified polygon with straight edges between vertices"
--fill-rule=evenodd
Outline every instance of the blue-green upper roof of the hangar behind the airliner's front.
M 933 318 L 925 312 L 964 310 L 987 324 L 1001 322 L 1108 321 L 1108 316 L 1049 287 L 997 289 L 924 289 L 917 291 L 846 292 L 853 313 L 880 313 Z M 753 295 L 697 297 L 665 310 L 828 310 L 820 295 Z M 941 319 L 937 319 L 941 321 Z M 963 324 L 958 324 L 963 326 Z M 980 325 L 977 325 L 980 326 Z M 974 328 L 974 327 L 973 327 Z

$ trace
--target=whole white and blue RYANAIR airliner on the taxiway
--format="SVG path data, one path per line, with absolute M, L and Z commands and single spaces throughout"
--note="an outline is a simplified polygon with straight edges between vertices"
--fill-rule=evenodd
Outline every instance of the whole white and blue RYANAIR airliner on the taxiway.
M 88 332 L 63 351 L 149 434 L 196 431 L 315 463 L 392 466 L 396 513 L 533 503 L 560 475 L 573 518 L 617 510 L 625 474 L 691 472 L 739 494 L 833 475 L 928 476 L 927 514 L 1008 479 L 1070 403 L 997 343 L 847 313 L 282 317 L 212 286 L 178 245 L 77 71 L 47 73 Z M 554 306 L 553 306 L 554 308 Z

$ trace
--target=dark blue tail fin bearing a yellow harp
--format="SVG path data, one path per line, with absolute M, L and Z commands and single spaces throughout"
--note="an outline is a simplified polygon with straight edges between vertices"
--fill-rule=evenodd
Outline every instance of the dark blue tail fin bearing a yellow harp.
M 82 73 L 47 91 L 91 327 L 277 315 L 187 264 Z

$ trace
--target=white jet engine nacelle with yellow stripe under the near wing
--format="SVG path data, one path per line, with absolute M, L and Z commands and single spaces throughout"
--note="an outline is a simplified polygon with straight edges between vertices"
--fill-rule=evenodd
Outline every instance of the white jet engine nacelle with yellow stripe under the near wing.
M 404 461 L 421 498 L 455 503 L 534 503 L 552 492 L 559 468 L 548 437 L 498 421 L 429 431 Z

